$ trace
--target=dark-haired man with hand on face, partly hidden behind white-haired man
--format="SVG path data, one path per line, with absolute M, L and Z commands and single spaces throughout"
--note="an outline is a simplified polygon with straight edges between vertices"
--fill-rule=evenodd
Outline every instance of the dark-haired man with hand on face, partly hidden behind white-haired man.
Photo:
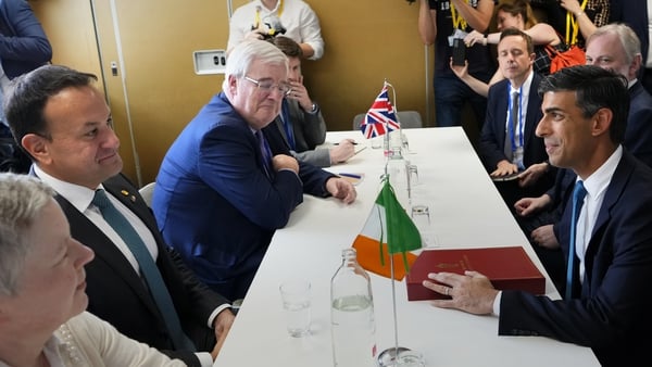
M 338 145 L 315 149 L 326 139 L 326 123 L 322 110 L 308 93 L 301 75 L 301 47 L 292 39 L 276 36 L 269 39 L 288 56 L 288 81 L 290 92 L 280 104 L 280 114 L 268 128 L 278 128 L 292 155 L 317 167 L 330 167 L 346 162 L 355 153 L 351 139 L 344 139 Z

